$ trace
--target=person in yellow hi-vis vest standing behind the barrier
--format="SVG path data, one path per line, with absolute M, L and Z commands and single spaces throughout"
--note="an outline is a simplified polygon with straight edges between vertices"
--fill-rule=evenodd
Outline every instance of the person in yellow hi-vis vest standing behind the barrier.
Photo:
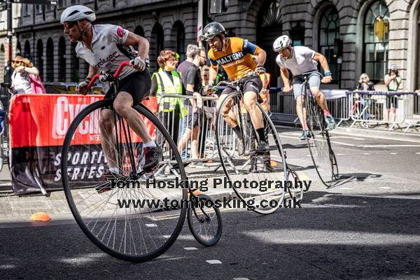
M 165 94 L 185 94 L 181 73 L 174 71 L 176 66 L 175 53 L 172 50 L 162 50 L 158 57 L 160 69 L 153 73 L 151 93 L 158 98 L 158 116 L 165 128 L 171 134 L 175 143 L 178 142 L 179 118 L 186 116 L 187 110 L 183 100 L 176 97 L 165 97 Z M 165 138 L 158 135 L 157 144 L 162 147 Z

